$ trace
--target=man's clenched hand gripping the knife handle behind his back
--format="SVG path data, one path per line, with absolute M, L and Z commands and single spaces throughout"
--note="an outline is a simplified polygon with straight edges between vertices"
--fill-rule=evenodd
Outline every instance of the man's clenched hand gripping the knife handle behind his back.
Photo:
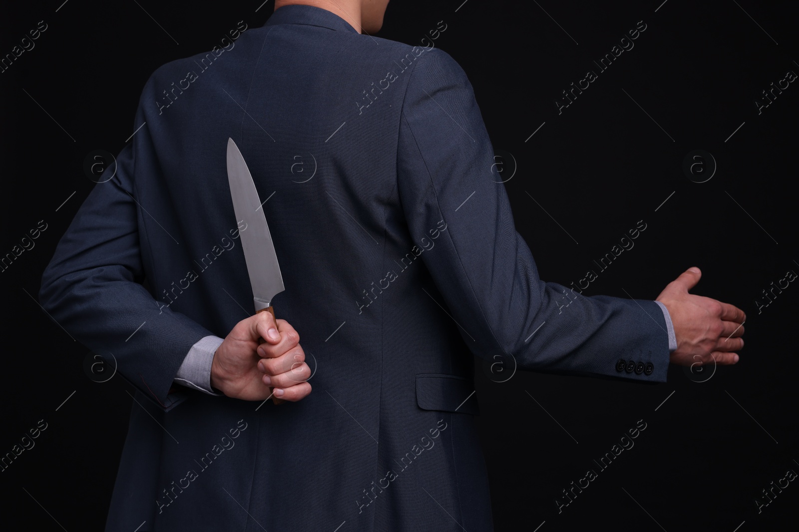
M 248 401 L 268 399 L 272 387 L 274 396 L 298 401 L 311 392 L 305 381 L 310 376 L 300 335 L 288 321 L 275 321 L 268 312 L 239 321 L 211 363 L 211 386 Z

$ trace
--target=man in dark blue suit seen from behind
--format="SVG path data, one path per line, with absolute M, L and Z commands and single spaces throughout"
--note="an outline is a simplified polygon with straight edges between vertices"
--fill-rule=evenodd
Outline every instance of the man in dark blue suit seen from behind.
M 42 305 L 137 388 L 106 530 L 491 530 L 471 353 L 646 382 L 737 361 L 744 315 L 698 270 L 658 301 L 539 278 L 465 73 L 373 37 L 387 3 L 276 2 L 157 69 L 59 243 Z M 285 321 L 249 316 L 229 138 Z

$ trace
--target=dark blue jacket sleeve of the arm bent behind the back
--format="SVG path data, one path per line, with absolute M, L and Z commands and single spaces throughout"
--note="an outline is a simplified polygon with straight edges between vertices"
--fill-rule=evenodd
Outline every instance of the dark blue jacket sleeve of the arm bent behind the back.
M 143 121 L 140 106 L 136 126 Z M 142 286 L 142 254 L 150 250 L 142 249 L 148 244 L 139 228 L 148 213 L 137 194 L 135 162 L 134 139 L 117 157 L 113 179 L 95 185 L 58 243 L 39 299 L 73 337 L 105 358 L 111 353 L 117 372 L 169 409 L 176 401 L 167 394 L 186 354 L 213 333 Z

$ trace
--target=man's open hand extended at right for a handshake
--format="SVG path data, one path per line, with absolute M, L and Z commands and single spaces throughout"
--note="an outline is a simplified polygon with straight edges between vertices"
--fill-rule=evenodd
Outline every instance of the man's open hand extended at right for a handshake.
M 671 353 L 672 364 L 735 364 L 744 346 L 741 335 L 746 314 L 737 306 L 711 298 L 688 294 L 699 282 L 702 272 L 691 267 L 670 282 L 655 301 L 669 310 L 677 349 Z

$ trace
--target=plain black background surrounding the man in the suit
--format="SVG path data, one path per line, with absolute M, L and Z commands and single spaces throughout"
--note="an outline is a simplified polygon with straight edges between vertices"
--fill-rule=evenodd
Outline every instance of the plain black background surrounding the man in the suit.
M 421 45 L 439 21 L 447 25 L 435 45 L 471 79 L 504 154 L 503 175 L 513 175 L 505 186 L 541 277 L 577 282 L 643 220 L 634 248 L 584 294 L 654 299 L 699 266 L 693 292 L 747 314 L 741 361 L 709 380 L 713 368 L 689 376 L 672 366 L 668 382 L 654 386 L 527 372 L 495 382 L 512 368 L 491 374 L 478 361 L 477 423 L 497 530 L 744 532 L 795 523 L 796 482 L 759 514 L 754 501 L 786 471 L 799 471 L 799 286 L 791 283 L 760 313 L 755 301 L 765 302 L 761 290 L 788 270 L 799 272 L 799 86 L 790 84 L 760 114 L 755 100 L 789 70 L 799 73 L 797 12 L 789 2 L 752 0 L 462 2 L 394 0 L 379 36 Z M 211 49 L 240 20 L 261 26 L 274 7 L 138 3 L 2 6 L 3 57 L 39 21 L 48 25 L 34 49 L 0 73 L 0 253 L 39 220 L 48 224 L 34 249 L 0 274 L 0 454 L 38 420 L 48 424 L 0 473 L 2 520 L 17 517 L 26 528 L 101 529 L 131 404 L 121 378 L 87 378 L 87 350 L 34 300 L 58 238 L 94 185 L 85 157 L 120 152 L 154 69 Z M 599 72 L 593 61 L 638 21 L 646 30 L 634 48 Z M 589 69 L 598 79 L 559 114 L 555 100 Z M 718 165 L 705 183 L 682 170 L 697 149 Z M 638 420 L 646 430 L 634 447 L 598 471 L 593 460 Z M 598 479 L 559 513 L 555 499 L 588 469 Z M 306 503 L 297 501 L 298 510 Z

